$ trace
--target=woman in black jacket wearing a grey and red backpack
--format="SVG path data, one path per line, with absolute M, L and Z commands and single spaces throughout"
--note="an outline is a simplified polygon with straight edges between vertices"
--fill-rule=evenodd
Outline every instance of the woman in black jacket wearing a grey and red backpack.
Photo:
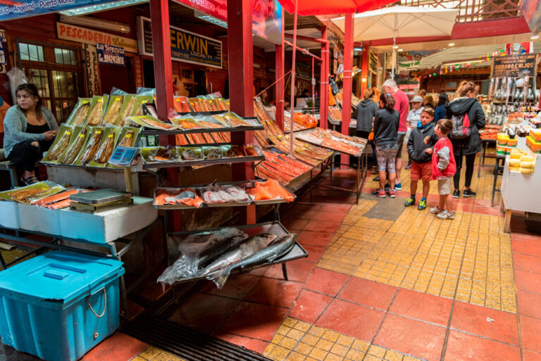
M 479 129 L 485 127 L 485 113 L 476 96 L 479 87 L 473 82 L 466 80 L 459 84 L 456 89 L 456 98 L 447 107 L 447 118 L 453 121 L 453 129 L 449 134 L 453 144 L 456 172 L 454 174 L 453 198 L 460 197 L 460 170 L 462 158 L 466 158 L 466 175 L 462 196 L 475 197 L 475 192 L 470 189 L 475 153 L 481 150 Z

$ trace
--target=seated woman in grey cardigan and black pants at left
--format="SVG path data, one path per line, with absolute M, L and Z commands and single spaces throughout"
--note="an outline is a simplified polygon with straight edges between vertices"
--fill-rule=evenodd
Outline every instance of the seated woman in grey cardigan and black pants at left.
M 43 106 L 34 84 L 20 84 L 15 94 L 17 105 L 9 108 L 4 118 L 4 152 L 8 160 L 23 166 L 21 180 L 33 184 L 39 182 L 36 163 L 53 143 L 58 123 Z

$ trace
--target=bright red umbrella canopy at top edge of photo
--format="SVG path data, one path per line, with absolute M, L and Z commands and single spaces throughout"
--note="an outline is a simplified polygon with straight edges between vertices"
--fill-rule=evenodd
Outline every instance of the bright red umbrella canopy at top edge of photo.
M 295 0 L 278 0 L 285 11 L 292 14 Z M 392 4 L 397 0 L 298 0 L 298 15 L 329 15 L 341 13 L 361 13 Z

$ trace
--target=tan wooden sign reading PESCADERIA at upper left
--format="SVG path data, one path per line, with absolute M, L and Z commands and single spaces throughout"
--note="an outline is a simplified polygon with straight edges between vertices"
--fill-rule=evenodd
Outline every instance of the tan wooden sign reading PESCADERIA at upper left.
M 118 35 L 109 34 L 107 32 L 90 30 L 86 27 L 65 23 L 56 23 L 56 34 L 58 39 L 71 40 L 72 42 L 92 45 L 101 43 L 122 46 L 125 51 L 137 53 L 137 40 L 129 39 L 127 37 L 119 37 Z

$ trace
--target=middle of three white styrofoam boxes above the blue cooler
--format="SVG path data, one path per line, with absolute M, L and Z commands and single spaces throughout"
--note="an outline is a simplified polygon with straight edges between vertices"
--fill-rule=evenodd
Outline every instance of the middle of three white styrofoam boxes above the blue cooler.
M 19 205 L 20 228 L 28 231 L 61 235 L 60 210 L 38 207 L 37 205 Z

